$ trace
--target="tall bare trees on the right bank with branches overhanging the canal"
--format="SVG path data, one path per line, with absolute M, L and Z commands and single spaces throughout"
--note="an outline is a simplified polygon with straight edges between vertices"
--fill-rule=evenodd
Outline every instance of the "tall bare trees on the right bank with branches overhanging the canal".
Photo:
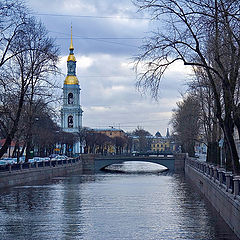
M 233 172 L 240 173 L 234 127 L 240 134 L 240 2 L 238 0 L 136 0 L 140 10 L 152 13 L 158 28 L 137 58 L 143 74 L 138 85 L 157 96 L 159 82 L 174 62 L 191 66 L 208 95 L 213 115 L 223 133 L 227 158 Z M 167 26 L 167 28 L 165 27 Z M 143 64 L 142 64 L 143 63 Z M 142 66 L 144 65 L 144 66 Z M 206 91 L 205 91 L 206 90 Z M 202 91 L 202 93 L 201 93 Z M 210 128 L 209 128 L 210 133 Z M 211 134 L 209 138 L 214 138 Z

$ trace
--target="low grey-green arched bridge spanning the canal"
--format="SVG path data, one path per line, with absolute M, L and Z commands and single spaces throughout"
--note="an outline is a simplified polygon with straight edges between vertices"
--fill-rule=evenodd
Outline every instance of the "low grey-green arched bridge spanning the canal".
M 105 156 L 105 157 L 98 157 L 96 156 L 94 159 L 94 171 L 98 172 L 105 167 L 112 165 L 112 164 L 120 164 L 123 162 L 130 162 L 130 161 L 139 161 L 139 162 L 151 162 L 160 164 L 170 171 L 176 171 L 180 165 L 179 160 L 176 158 L 176 155 L 172 155 L 169 157 L 160 157 L 160 156 Z M 184 159 L 183 159 L 184 161 Z M 181 167 L 184 167 L 184 163 L 181 161 Z

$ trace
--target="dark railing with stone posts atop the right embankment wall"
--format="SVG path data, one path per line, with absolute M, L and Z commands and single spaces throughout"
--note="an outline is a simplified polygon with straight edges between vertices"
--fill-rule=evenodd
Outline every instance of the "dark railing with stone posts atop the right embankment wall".
M 240 176 L 234 175 L 224 168 L 192 158 L 187 158 L 186 164 L 204 174 L 211 181 L 225 189 L 226 192 L 233 194 L 234 198 L 239 198 L 240 200 Z

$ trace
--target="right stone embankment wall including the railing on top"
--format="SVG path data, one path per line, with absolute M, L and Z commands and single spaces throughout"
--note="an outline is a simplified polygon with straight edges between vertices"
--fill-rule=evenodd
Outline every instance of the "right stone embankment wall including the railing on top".
M 240 238 L 240 177 L 190 158 L 185 161 L 185 175 Z

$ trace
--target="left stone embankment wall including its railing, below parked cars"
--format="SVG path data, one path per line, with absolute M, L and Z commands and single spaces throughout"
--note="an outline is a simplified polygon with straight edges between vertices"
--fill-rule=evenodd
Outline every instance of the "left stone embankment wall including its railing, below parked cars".
M 0 188 L 31 184 L 57 176 L 82 172 L 82 160 L 80 158 L 27 163 L 19 166 L 18 169 L 15 169 L 15 166 L 8 166 L 7 171 L 0 172 Z

